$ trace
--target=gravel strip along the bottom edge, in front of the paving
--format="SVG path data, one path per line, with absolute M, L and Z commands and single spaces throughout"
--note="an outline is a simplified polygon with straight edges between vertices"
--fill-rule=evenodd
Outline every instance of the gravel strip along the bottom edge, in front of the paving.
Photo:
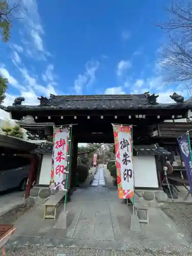
M 130 249 L 128 251 L 123 250 L 96 250 L 96 249 L 80 249 L 80 248 L 63 248 L 58 249 L 56 247 L 35 247 L 35 246 L 13 246 L 6 250 L 9 256 L 57 256 L 57 255 L 83 255 L 83 256 L 139 256 L 139 255 L 191 255 L 192 251 L 186 251 L 184 248 L 182 251 L 176 250 L 164 250 L 153 251 L 150 249 Z

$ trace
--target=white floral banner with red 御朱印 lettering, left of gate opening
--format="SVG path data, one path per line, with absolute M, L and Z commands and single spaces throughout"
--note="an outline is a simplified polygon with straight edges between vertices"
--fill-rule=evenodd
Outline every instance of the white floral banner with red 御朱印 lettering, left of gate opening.
M 67 189 L 66 178 L 68 170 L 70 127 L 54 127 L 53 131 L 53 154 L 51 167 L 50 188 Z

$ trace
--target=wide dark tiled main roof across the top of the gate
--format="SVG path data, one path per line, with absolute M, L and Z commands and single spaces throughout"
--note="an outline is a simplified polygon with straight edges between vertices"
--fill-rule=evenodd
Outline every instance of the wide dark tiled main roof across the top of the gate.
M 158 95 L 125 94 L 125 95 L 50 95 L 50 98 L 40 97 L 39 105 L 24 105 L 16 100 L 12 106 L 0 108 L 7 111 L 19 110 L 127 110 L 127 109 L 181 109 L 192 108 L 192 101 L 183 103 L 157 103 Z

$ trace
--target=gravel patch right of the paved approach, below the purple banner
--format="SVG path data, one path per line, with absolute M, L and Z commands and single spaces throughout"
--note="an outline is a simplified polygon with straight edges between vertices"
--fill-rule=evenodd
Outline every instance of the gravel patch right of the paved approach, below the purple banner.
M 188 203 L 169 203 L 168 207 L 162 209 L 163 212 L 172 219 L 181 229 L 181 232 L 192 240 L 192 204 Z

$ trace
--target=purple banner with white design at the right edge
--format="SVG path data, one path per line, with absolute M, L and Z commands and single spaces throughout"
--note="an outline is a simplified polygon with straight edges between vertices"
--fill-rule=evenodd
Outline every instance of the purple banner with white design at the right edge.
M 192 195 L 192 164 L 190 158 L 190 140 L 188 134 L 183 134 L 181 137 L 177 138 L 177 141 L 179 143 L 181 155 L 185 164 L 188 183 L 190 186 L 190 194 Z

